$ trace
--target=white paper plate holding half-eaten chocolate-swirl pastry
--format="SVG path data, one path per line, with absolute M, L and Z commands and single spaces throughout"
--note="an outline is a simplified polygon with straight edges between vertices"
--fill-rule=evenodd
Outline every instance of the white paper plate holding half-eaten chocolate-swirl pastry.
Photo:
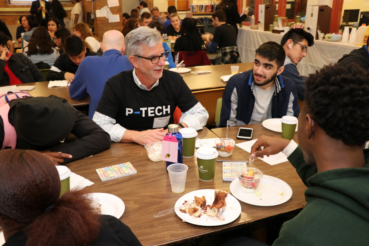
M 195 195 L 197 197 L 201 197 L 204 195 L 206 198 L 206 204 L 211 205 L 213 204 L 214 201 L 214 193 L 215 190 L 211 189 L 192 191 L 179 198 L 174 207 L 179 207 L 180 205 L 183 204 L 184 201 L 193 200 Z M 203 226 L 225 225 L 237 219 L 238 216 L 241 214 L 241 204 L 239 204 L 239 201 L 236 198 L 234 198 L 234 196 L 228 194 L 227 198 L 225 198 L 225 202 L 226 202 L 225 209 L 222 213 L 222 216 L 224 216 L 225 218 L 224 221 L 217 221 L 210 218 L 204 219 L 203 217 L 207 217 L 207 215 L 201 215 L 199 220 L 196 220 L 194 216 L 180 212 L 179 208 L 176 209 L 176 214 L 178 215 L 179 218 L 189 220 L 187 222 L 194 225 L 203 225 Z

